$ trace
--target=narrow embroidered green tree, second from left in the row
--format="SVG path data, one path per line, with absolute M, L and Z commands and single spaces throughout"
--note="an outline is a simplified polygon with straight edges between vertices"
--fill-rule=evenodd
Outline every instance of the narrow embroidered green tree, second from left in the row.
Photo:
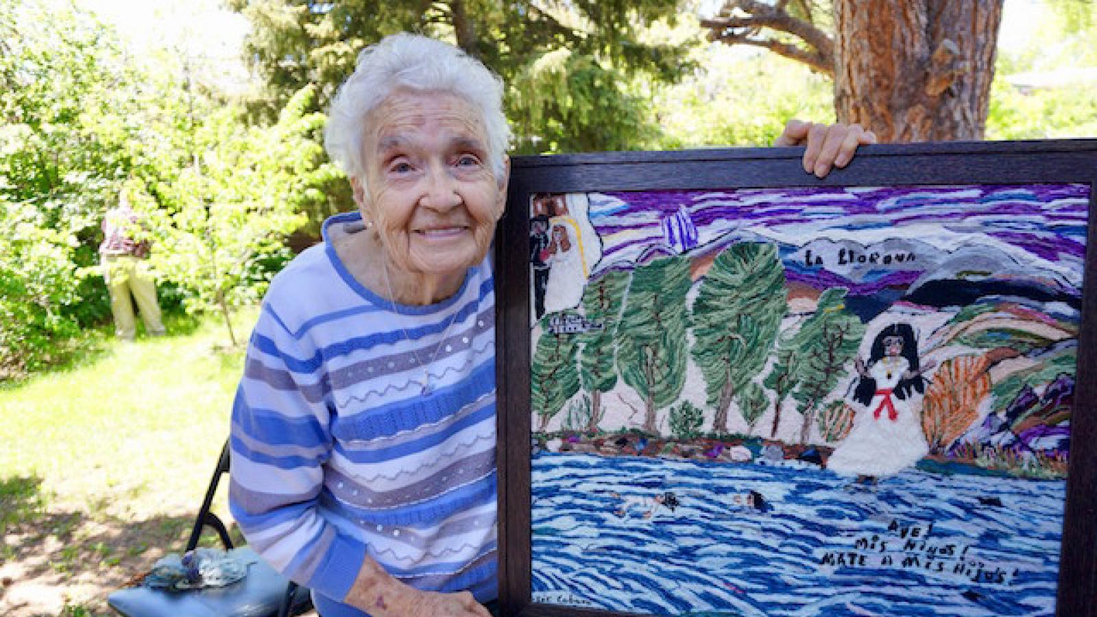
M 602 325 L 601 329 L 591 329 L 579 336 L 579 381 L 583 389 L 590 393 L 587 430 L 591 433 L 598 430 L 598 423 L 602 419 L 602 393 L 612 390 L 618 382 L 614 343 L 627 287 L 627 272 L 610 270 L 587 283 L 583 292 L 583 311 L 587 321 Z

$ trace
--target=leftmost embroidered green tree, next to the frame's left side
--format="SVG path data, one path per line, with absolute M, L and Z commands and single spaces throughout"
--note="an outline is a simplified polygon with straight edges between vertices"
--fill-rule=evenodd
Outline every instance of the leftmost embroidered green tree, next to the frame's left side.
M 552 317 L 566 319 L 568 315 L 575 316 L 576 313 L 564 311 L 546 315 L 541 319 L 541 337 L 533 351 L 533 366 L 530 370 L 530 405 L 540 419 L 539 430 L 542 433 L 547 429 L 548 420 L 579 391 L 579 370 L 576 363 L 578 336 L 553 334 L 548 329 L 548 321 Z

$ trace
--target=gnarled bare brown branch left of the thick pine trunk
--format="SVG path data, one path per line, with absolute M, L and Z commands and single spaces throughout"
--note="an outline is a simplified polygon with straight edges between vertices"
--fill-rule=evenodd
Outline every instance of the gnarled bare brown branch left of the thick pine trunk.
M 758 0 L 727 0 L 720 11 L 720 16 L 702 20 L 701 26 L 709 29 L 710 41 L 720 41 L 727 45 L 765 47 L 833 76 L 834 38 L 811 22 L 792 16 L 785 7 L 787 2 L 770 5 Z M 762 29 L 796 36 L 811 49 L 772 38 L 753 38 Z

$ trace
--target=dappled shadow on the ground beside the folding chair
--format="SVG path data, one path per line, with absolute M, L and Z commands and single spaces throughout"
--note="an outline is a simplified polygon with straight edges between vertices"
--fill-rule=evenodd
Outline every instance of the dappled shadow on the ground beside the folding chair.
M 90 593 L 81 606 L 106 614 L 111 592 L 138 583 L 166 553 L 183 551 L 200 505 L 194 504 L 194 514 L 131 519 L 105 514 L 106 501 L 63 511 L 50 507 L 41 478 L 0 479 L 0 607 L 20 615 L 48 614 L 50 606 L 35 605 L 26 590 L 49 590 L 46 599 L 56 601 L 79 586 L 81 595 Z M 235 524 L 229 536 L 237 546 L 244 543 Z M 220 542 L 207 528 L 199 546 Z

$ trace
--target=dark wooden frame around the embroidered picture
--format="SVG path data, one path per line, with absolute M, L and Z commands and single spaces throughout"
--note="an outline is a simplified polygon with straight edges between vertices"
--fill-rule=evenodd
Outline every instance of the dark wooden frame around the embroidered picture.
M 1097 139 L 862 147 L 823 180 L 803 148 L 514 157 L 496 237 L 499 599 L 505 616 L 626 615 L 531 602 L 530 197 L 542 192 L 1088 183 L 1089 226 L 1056 614 L 1097 617 Z

